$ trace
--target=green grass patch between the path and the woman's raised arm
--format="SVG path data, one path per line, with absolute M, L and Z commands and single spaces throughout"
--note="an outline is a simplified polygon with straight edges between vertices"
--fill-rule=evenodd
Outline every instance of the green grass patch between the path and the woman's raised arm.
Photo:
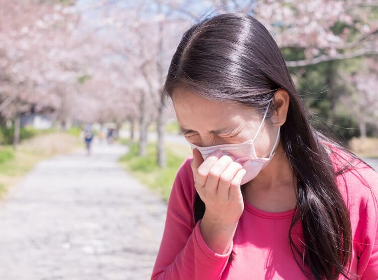
M 122 139 L 121 143 L 129 146 L 129 153 L 119 159 L 120 165 L 150 189 L 160 193 L 167 201 L 178 168 L 191 155 L 191 149 L 181 145 L 166 145 L 167 166 L 162 169 L 157 165 L 156 143 L 147 145 L 145 157 L 138 155 L 138 143 L 129 139 Z

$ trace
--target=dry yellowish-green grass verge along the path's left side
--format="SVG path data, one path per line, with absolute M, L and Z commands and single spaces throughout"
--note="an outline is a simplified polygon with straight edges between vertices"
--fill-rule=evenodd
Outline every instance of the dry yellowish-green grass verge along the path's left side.
M 0 146 L 0 197 L 20 182 L 37 162 L 67 154 L 78 147 L 78 138 L 67 133 L 40 134 L 22 142 L 17 150 Z

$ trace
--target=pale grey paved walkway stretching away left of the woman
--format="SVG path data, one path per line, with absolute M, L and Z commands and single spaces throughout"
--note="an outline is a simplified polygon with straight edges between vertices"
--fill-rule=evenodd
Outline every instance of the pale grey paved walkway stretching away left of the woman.
M 0 202 L 0 279 L 149 279 L 166 204 L 96 145 L 41 162 Z

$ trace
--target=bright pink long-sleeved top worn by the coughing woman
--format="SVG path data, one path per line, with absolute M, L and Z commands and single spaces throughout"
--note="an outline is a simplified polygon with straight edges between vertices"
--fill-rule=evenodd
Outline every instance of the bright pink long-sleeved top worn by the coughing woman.
M 204 242 L 195 225 L 196 194 L 191 157 L 180 167 L 168 202 L 166 224 L 151 279 L 307 279 L 290 250 L 288 231 L 293 211 L 269 213 L 245 202 L 233 244 L 220 255 Z M 335 159 L 333 159 L 335 164 Z M 351 272 L 358 279 L 378 279 L 378 173 L 359 164 L 337 178 L 350 212 L 353 234 Z M 364 180 L 366 182 L 364 182 Z M 294 230 L 298 242 L 301 228 Z M 296 243 L 301 246 L 300 243 Z M 234 251 L 230 264 L 228 257 Z M 339 279 L 344 279 L 340 276 Z

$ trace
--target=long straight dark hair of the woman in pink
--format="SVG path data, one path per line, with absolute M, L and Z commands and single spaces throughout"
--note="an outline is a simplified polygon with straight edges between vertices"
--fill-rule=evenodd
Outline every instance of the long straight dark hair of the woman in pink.
M 243 104 L 261 114 L 276 90 L 287 91 L 290 104 L 281 141 L 297 178 L 297 202 L 289 230 L 291 250 L 307 276 L 337 279 L 342 274 L 350 278 L 349 213 L 329 154 L 321 143 L 330 141 L 311 127 L 281 51 L 268 30 L 251 16 L 233 13 L 194 25 L 179 43 L 164 85 L 169 97 L 177 89 L 191 90 L 208 100 Z M 268 119 L 274 108 L 272 103 Z M 196 223 L 204 212 L 205 204 L 197 194 Z M 297 223 L 302 226 L 303 251 L 291 236 Z

